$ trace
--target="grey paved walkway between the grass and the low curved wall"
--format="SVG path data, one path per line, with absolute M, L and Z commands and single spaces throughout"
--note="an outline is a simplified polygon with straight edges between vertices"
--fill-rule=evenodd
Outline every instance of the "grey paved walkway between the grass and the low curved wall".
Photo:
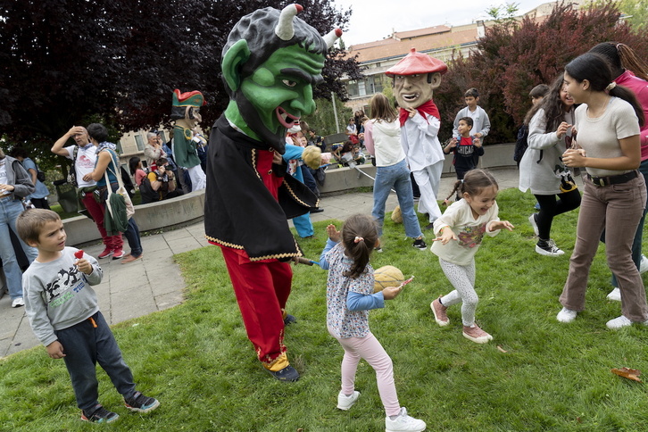
M 518 187 L 518 170 L 494 170 L 500 188 Z M 447 196 L 456 179 L 441 179 L 441 196 Z M 397 204 L 394 193 L 389 195 L 386 211 Z M 312 220 L 345 220 L 353 213 L 371 213 L 373 199 L 370 192 L 326 196 L 321 199 L 324 212 L 313 213 Z M 183 301 L 185 281 L 178 265 L 173 262 L 175 253 L 192 251 L 208 245 L 204 239 L 203 223 L 179 228 L 161 234 L 142 237 L 144 257 L 137 262 L 121 264 L 120 260 L 100 260 L 104 269 L 103 282 L 95 287 L 99 306 L 112 325 L 156 311 L 163 311 Z M 97 256 L 103 245 L 87 246 L 84 250 Z M 171 271 L 170 271 L 171 270 Z M 163 278 L 158 277 L 164 275 Z M 11 298 L 0 298 L 0 358 L 39 345 L 29 327 L 24 308 L 11 307 Z

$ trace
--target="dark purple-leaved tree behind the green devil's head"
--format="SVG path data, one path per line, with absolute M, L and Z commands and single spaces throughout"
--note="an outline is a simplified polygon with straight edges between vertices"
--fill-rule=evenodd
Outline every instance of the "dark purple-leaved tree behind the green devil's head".
M 0 6 L 0 136 L 49 148 L 72 125 L 100 116 L 120 130 L 169 121 L 171 92 L 200 90 L 211 126 L 228 103 L 220 53 L 245 14 L 278 0 L 22 0 Z M 351 10 L 303 0 L 320 34 L 345 28 Z M 319 95 L 345 99 L 338 79 L 358 63 L 333 52 Z

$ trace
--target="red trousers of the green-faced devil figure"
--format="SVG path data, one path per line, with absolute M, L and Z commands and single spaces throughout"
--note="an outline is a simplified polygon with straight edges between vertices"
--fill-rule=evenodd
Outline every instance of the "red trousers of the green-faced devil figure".
M 232 279 L 234 294 L 243 316 L 245 331 L 266 369 L 288 365 L 284 345 L 284 317 L 293 270 L 287 262 L 251 262 L 237 249 L 220 247 Z

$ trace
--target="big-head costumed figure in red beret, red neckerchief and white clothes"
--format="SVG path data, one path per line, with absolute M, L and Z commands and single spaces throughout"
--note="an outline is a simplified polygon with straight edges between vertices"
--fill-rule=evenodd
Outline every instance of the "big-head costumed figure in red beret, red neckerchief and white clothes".
M 444 152 L 436 137 L 441 116 L 432 95 L 447 70 L 444 62 L 412 48 L 410 54 L 385 72 L 394 79 L 394 94 L 401 107 L 401 143 L 420 188 L 419 212 L 428 214 L 430 224 L 426 228 L 431 228 L 432 222 L 441 216 L 436 195 Z

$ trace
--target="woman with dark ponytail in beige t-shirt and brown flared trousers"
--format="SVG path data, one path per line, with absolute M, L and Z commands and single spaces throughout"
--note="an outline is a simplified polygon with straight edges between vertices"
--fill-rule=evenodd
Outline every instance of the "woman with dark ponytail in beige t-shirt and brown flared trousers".
M 644 282 L 631 253 L 646 204 L 644 176 L 637 171 L 644 111 L 632 91 L 612 81 L 611 67 L 600 54 L 579 55 L 565 66 L 564 79 L 569 96 L 581 105 L 576 110 L 577 148 L 568 149 L 562 162 L 569 168 L 585 168 L 586 175 L 576 245 L 557 319 L 570 322 L 585 309 L 589 268 L 605 229 L 605 252 L 619 280 L 622 313 L 607 327 L 648 324 Z

